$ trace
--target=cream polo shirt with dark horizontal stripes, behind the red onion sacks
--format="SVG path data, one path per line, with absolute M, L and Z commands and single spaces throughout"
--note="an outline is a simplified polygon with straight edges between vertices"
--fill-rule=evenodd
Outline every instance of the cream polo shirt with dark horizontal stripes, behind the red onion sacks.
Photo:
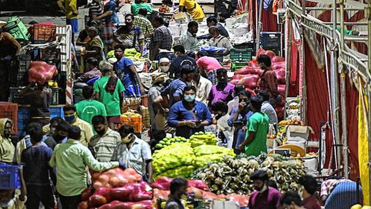
M 108 128 L 103 136 L 96 134 L 91 138 L 89 149 L 99 162 L 109 162 L 111 161 L 114 149 L 120 142 L 120 134 Z

